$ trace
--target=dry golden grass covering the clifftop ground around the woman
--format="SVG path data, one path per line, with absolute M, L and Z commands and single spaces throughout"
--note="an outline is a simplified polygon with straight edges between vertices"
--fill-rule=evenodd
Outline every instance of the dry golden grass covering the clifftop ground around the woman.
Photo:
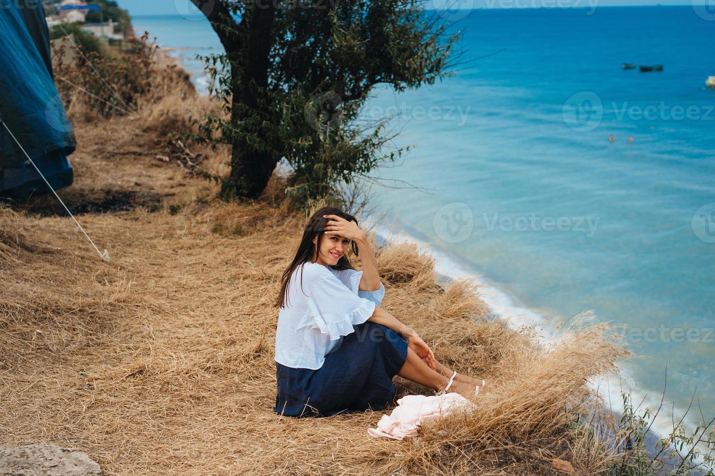
M 540 345 L 531 329 L 486 320 L 473 282 L 436 285 L 433 260 L 406 244 L 378 248 L 383 307 L 446 365 L 490 381 L 476 410 L 403 442 L 368 437 L 383 412 L 272 412 L 272 303 L 305 218 L 277 179 L 261 201 L 216 201 L 208 182 L 154 159 L 164 126 L 115 118 L 78 131 L 77 180 L 62 196 L 136 206 L 79 217 L 109 263 L 51 197 L 0 208 L 1 444 L 78 447 L 108 475 L 563 474 L 554 457 L 578 474 L 603 469 L 563 421 L 591 398 L 586 380 L 625 355 L 608 330 L 578 325 Z M 396 398 L 430 393 L 396 383 Z

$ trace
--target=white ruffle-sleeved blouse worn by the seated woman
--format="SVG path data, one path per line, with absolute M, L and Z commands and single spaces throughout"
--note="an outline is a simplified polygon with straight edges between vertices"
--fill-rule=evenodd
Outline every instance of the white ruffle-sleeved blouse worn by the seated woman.
M 301 273 L 302 270 L 302 273 Z M 302 290 L 301 290 L 302 274 Z M 278 312 L 275 361 L 292 368 L 317 370 L 325 355 L 375 312 L 385 286 L 358 289 L 363 271 L 335 270 L 307 261 L 290 278 L 288 300 Z

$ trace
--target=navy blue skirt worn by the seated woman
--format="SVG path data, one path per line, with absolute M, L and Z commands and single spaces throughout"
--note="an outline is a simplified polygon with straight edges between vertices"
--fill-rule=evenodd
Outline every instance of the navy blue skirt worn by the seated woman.
M 274 412 L 321 417 L 385 409 L 395 397 L 393 377 L 407 360 L 407 341 L 370 321 L 354 327 L 317 370 L 275 363 Z

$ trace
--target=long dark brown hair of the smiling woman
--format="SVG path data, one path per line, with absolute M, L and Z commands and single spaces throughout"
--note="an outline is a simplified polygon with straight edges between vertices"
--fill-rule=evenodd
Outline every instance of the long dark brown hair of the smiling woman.
M 313 213 L 313 215 L 308 220 L 308 223 L 305 225 L 305 229 L 303 230 L 303 238 L 301 238 L 298 250 L 295 252 L 295 258 L 293 258 L 293 261 L 292 263 L 290 263 L 290 266 L 288 266 L 287 270 L 283 272 L 280 293 L 278 294 L 278 298 L 275 301 L 275 306 L 277 308 L 283 308 L 287 307 L 287 305 L 290 305 L 290 303 L 287 303 L 288 285 L 290 285 L 290 277 L 293 274 L 293 271 L 295 271 L 298 266 L 302 265 L 306 261 L 312 260 L 313 255 L 317 255 L 317 250 L 320 250 L 320 243 L 322 239 L 326 237 L 325 233 L 323 233 L 325 231 L 325 226 L 327 226 L 328 221 L 332 220 L 332 218 L 322 218 L 323 215 L 337 215 L 340 218 L 345 218 L 345 220 L 347 221 L 355 221 L 355 223 L 358 223 L 358 220 L 356 220 L 354 216 L 350 215 L 349 213 L 345 213 L 344 211 L 340 210 L 340 208 L 322 207 L 318 208 L 315 213 Z M 314 236 L 317 236 L 315 245 L 312 243 L 312 238 Z M 355 255 L 357 256 L 358 245 L 355 244 L 355 241 L 350 240 L 350 248 L 352 248 L 352 253 L 355 253 Z M 335 263 L 335 265 L 333 265 L 332 267 L 337 270 L 355 269 L 350 264 L 350 260 L 347 259 L 347 253 L 340 256 L 340 259 L 337 260 L 337 263 Z M 302 281 L 303 273 L 301 270 L 301 289 Z

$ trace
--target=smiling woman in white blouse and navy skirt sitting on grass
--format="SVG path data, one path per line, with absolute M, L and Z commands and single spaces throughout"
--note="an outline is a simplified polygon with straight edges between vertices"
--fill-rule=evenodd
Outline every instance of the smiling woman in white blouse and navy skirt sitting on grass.
M 356 271 L 345 253 L 363 257 Z M 300 290 L 300 292 L 299 292 Z M 385 287 L 355 217 L 323 207 L 308 221 L 276 306 L 275 412 L 327 416 L 383 410 L 393 377 L 473 397 L 483 382 L 453 372 L 412 328 L 380 307 Z

